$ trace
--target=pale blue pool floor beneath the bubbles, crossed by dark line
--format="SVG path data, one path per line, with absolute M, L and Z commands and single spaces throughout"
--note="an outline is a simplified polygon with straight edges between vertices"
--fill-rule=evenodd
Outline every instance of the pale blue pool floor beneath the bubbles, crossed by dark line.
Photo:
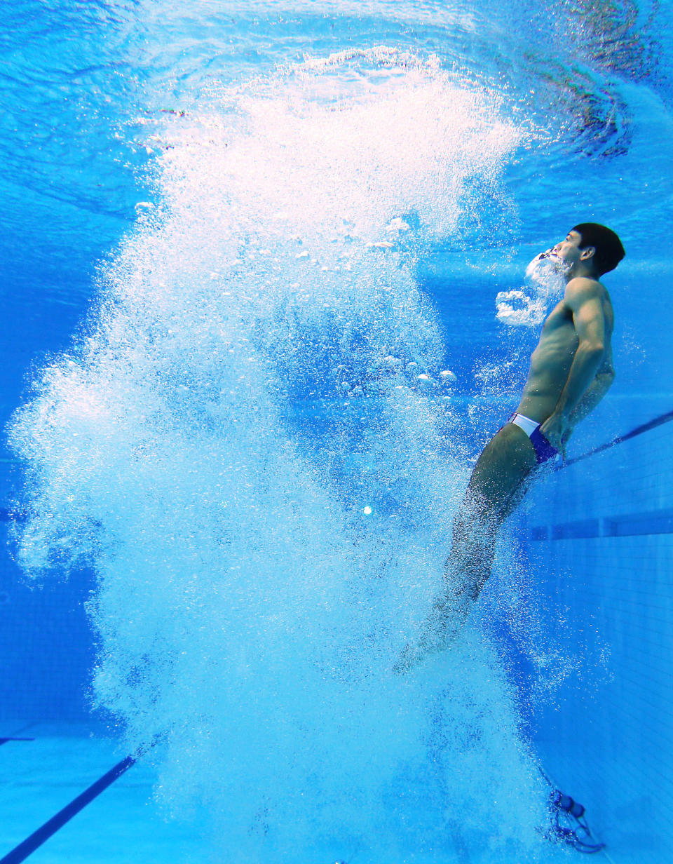
M 123 758 L 113 739 L 97 737 L 86 727 L 47 723 L 0 723 L 0 860 L 54 814 L 73 801 Z M 165 821 L 152 799 L 155 775 L 142 762 L 131 766 L 71 821 L 30 854 L 31 864 L 213 864 L 197 823 Z M 585 856 L 549 846 L 541 864 L 579 861 Z M 611 861 L 605 854 L 595 861 Z M 232 859 L 233 860 L 233 859 Z M 364 851 L 345 848 L 347 864 L 404 864 L 379 861 Z M 414 864 L 424 864 L 417 854 Z M 430 861 L 430 859 L 429 859 Z M 437 857 L 431 859 L 437 864 Z M 446 864 L 494 864 L 461 849 Z M 260 862 L 262 864 L 262 862 Z M 334 864 L 334 854 L 316 849 L 311 861 Z M 509 864 L 509 862 L 499 862 Z M 511 864 L 518 864 L 512 861 Z

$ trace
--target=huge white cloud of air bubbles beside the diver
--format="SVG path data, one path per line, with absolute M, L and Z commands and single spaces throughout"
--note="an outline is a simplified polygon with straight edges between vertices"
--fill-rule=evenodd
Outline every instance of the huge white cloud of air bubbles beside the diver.
M 205 808 L 227 860 L 537 842 L 492 651 L 468 635 L 441 674 L 391 673 L 468 468 L 441 436 L 415 250 L 488 200 L 517 142 L 487 94 L 407 59 L 309 62 L 153 130 L 161 203 L 11 431 L 24 567 L 96 569 L 96 701 L 125 746 L 158 742 L 157 794 Z

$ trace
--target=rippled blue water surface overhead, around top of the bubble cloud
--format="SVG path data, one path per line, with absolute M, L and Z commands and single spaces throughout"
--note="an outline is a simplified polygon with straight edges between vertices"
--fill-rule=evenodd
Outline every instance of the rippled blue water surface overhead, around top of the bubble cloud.
M 22 243 L 15 238 L 35 236 L 35 225 L 43 236 L 48 222 L 42 247 L 49 254 L 37 251 L 42 266 L 52 267 L 59 251 L 67 267 L 72 253 L 64 246 L 73 236 L 78 251 L 97 254 L 102 231 L 113 239 L 133 219 L 153 158 L 148 149 L 156 150 L 148 147 L 150 128 L 167 113 L 194 111 L 223 83 L 270 73 L 305 54 L 375 44 L 435 54 L 456 79 L 502 95 L 505 111 L 529 132 L 510 182 L 536 232 L 553 224 L 551 200 L 563 196 L 568 208 L 585 184 L 589 198 L 602 199 L 593 206 L 608 215 L 625 196 L 631 211 L 651 207 L 653 198 L 670 206 L 662 176 L 670 104 L 665 4 L 315 9 L 159 0 L 5 4 L 0 156 L 11 181 L 3 195 L 13 206 L 11 217 L 3 208 L 3 242 L 16 251 Z M 60 219 L 47 218 L 54 213 L 49 202 Z M 636 216 L 636 223 L 638 240 L 649 238 L 650 220 Z

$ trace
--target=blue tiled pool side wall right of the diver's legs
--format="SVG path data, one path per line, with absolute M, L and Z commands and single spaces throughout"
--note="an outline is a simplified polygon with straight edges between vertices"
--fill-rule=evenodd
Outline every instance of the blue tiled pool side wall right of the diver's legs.
M 668 423 L 552 473 L 519 523 L 568 661 L 533 708 L 536 751 L 614 864 L 673 860 L 671 471 Z

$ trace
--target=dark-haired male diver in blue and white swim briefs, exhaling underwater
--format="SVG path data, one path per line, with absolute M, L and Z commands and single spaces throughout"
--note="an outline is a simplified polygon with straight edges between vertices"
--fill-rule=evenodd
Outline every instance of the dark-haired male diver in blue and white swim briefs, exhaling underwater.
M 562 300 L 544 321 L 517 410 L 474 467 L 454 517 L 441 594 L 421 638 L 407 645 L 396 671 L 452 644 L 491 574 L 498 529 L 538 469 L 559 452 L 565 454 L 575 423 L 594 410 L 613 383 L 613 306 L 600 277 L 624 255 L 617 234 L 583 222 L 539 256 L 548 257 L 564 277 Z

